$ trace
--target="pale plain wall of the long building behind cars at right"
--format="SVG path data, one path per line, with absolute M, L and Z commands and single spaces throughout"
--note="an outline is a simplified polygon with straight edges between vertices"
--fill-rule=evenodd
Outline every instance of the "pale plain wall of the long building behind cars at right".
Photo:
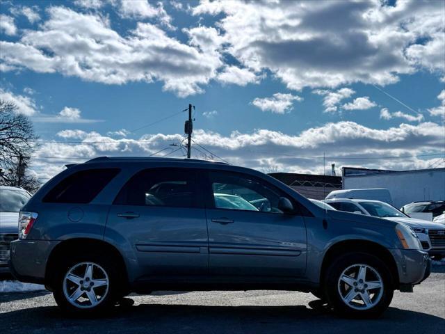
M 386 188 L 400 208 L 416 200 L 445 200 L 445 169 L 343 177 L 343 189 Z

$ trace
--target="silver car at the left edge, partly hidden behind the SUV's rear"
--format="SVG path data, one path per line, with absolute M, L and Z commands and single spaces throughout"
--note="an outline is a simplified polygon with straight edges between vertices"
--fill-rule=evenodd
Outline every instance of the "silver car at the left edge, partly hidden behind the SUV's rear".
M 0 273 L 9 271 L 9 248 L 18 239 L 19 211 L 31 194 L 17 186 L 0 186 Z

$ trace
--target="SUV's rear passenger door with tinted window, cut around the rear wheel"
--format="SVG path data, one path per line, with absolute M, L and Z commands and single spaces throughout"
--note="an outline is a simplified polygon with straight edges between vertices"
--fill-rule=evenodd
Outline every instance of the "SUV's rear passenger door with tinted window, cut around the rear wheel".
M 108 214 L 106 237 L 130 241 L 136 278 L 207 275 L 207 223 L 196 173 L 142 170 L 124 185 Z

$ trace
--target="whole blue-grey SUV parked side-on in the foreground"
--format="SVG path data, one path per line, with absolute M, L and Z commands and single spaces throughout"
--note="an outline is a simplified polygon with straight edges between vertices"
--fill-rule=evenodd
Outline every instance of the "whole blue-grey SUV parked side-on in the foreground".
M 286 289 L 375 317 L 430 271 L 406 225 L 318 207 L 248 168 L 102 157 L 69 166 L 20 212 L 10 268 L 72 312 L 130 292 Z

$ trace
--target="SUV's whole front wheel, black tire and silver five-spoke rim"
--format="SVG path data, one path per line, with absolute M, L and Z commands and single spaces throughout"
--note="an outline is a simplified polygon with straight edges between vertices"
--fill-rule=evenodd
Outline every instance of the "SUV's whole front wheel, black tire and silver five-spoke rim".
M 334 311 L 343 317 L 378 317 L 394 294 L 385 262 L 368 253 L 348 253 L 326 271 L 325 292 Z

